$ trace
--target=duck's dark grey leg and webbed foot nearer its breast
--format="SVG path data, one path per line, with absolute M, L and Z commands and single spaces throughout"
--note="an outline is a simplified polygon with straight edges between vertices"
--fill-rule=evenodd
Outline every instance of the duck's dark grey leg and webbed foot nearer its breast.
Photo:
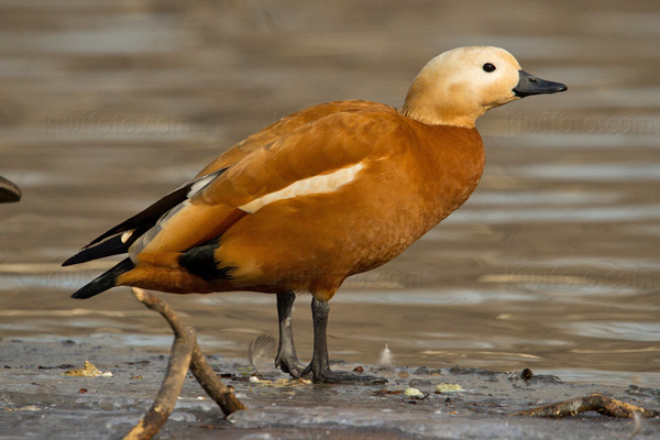
M 382 377 L 365 376 L 349 372 L 333 372 L 330 370 L 328 360 L 328 315 L 330 304 L 328 301 L 311 300 L 311 318 L 314 321 L 314 356 L 311 363 L 302 374 L 309 372 L 314 375 L 314 382 L 328 384 L 384 384 L 387 381 Z

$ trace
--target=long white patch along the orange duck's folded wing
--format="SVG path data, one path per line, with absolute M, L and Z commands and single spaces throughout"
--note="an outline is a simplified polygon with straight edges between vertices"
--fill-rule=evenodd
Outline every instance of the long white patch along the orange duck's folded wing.
M 328 194 L 334 193 L 343 185 L 351 183 L 355 179 L 355 176 L 363 168 L 362 163 L 341 168 L 334 173 L 323 174 L 320 176 L 308 177 L 298 182 L 294 182 L 286 188 L 278 191 L 266 194 L 258 199 L 254 199 L 249 204 L 240 206 L 239 209 L 248 213 L 254 213 L 277 200 L 290 199 L 298 196 L 306 196 L 311 194 Z

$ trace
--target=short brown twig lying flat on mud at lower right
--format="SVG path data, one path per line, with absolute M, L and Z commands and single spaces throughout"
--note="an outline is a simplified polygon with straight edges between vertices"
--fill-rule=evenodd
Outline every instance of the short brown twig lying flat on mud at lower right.
M 632 418 L 635 417 L 635 414 L 639 414 L 645 418 L 658 417 L 660 415 L 660 411 L 645 409 L 640 406 L 626 404 L 625 402 L 605 397 L 600 394 L 590 394 L 585 397 L 527 409 L 525 411 L 513 414 L 512 416 L 561 418 L 575 416 L 576 414 L 586 411 L 596 411 L 603 416 L 617 418 Z

